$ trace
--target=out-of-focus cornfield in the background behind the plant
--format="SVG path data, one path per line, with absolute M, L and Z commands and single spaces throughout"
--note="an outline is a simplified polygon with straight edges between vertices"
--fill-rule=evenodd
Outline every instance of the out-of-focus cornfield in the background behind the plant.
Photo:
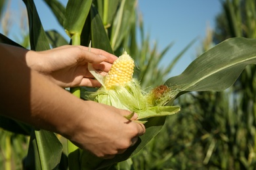
M 51 1 L 45 0 L 45 3 L 54 11 Z M 216 16 L 217 26 L 206 30 L 198 56 L 230 37 L 256 38 L 256 1 L 223 0 L 221 3 L 223 10 Z M 122 5 L 129 7 L 129 18 L 115 17 L 118 12 L 106 12 L 107 4 L 102 0 L 95 1 L 114 54 L 119 56 L 123 49 L 131 54 L 137 63 L 135 76 L 142 82 L 142 87 L 163 84 L 175 63 L 194 40 L 184 46 L 184 50 L 177 56 L 171 56 L 167 67 L 161 68 L 160 61 L 171 50 L 173 42 L 159 51 L 158 43 L 150 44 L 150 35 L 144 33 L 137 1 L 120 1 L 120 4 L 118 8 L 122 8 Z M 58 8 L 60 11 L 64 9 L 62 6 Z M 0 11 L 2 34 L 9 35 L 11 18 L 8 1 L 0 2 Z M 117 22 L 125 24 L 119 27 L 119 31 L 112 27 Z M 28 47 L 28 27 L 23 24 L 20 25 L 20 36 L 23 39 L 16 41 Z M 53 41 L 54 33 L 50 30 L 47 34 L 49 41 L 52 40 L 51 46 L 68 43 L 64 40 Z M 119 38 L 116 39 L 116 36 Z M 181 112 L 167 117 L 160 133 L 131 158 L 133 164 L 128 166 L 129 161 L 125 161 L 116 165 L 116 169 L 256 169 L 255 65 L 246 67 L 234 86 L 228 90 L 186 93 L 179 97 L 176 105 L 181 106 Z M 0 118 L 0 127 L 8 124 L 4 121 Z M 22 133 L 0 129 L 0 169 L 22 169 L 22 161 L 28 152 L 28 141 L 28 136 Z

